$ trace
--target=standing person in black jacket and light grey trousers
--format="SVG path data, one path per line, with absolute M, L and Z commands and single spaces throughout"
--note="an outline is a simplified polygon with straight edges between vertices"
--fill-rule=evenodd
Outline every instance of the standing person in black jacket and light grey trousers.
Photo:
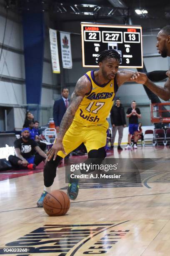
M 110 111 L 110 120 L 112 124 L 112 138 L 111 138 L 111 146 L 110 149 L 112 149 L 115 142 L 115 136 L 118 130 L 119 138 L 118 138 L 118 147 L 117 150 L 122 150 L 120 144 L 123 137 L 123 128 L 126 127 L 126 118 L 125 118 L 125 110 L 120 104 L 120 99 L 116 100 L 115 105 L 112 106 L 112 109 Z

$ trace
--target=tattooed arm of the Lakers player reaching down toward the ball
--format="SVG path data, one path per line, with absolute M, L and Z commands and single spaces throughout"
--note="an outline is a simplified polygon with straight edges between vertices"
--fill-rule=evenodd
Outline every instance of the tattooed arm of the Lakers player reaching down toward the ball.
M 86 76 L 80 77 L 80 79 L 77 81 L 75 90 L 71 95 L 70 105 L 68 106 L 62 121 L 60 123 L 59 133 L 57 134 L 57 138 L 55 139 L 55 143 L 53 144 L 52 148 L 50 148 L 50 151 L 48 151 L 48 161 L 52 158 L 54 155 L 54 160 L 57 156 L 58 151 L 62 151 L 64 154 L 65 150 L 62 144 L 62 139 L 70 127 L 72 120 L 74 119 L 75 113 L 84 98 L 86 94 L 88 94 L 91 90 L 91 83 L 87 79 Z

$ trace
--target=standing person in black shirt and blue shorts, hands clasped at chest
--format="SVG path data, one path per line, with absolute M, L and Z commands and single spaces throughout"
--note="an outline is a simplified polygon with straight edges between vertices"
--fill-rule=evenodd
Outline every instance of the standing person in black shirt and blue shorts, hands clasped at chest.
M 129 118 L 129 134 L 128 134 L 128 145 L 125 149 L 131 148 L 130 139 L 134 134 L 134 148 L 137 147 L 137 136 L 138 136 L 138 118 L 141 118 L 140 109 L 136 108 L 136 102 L 133 100 L 131 108 L 128 108 L 126 112 L 127 118 Z

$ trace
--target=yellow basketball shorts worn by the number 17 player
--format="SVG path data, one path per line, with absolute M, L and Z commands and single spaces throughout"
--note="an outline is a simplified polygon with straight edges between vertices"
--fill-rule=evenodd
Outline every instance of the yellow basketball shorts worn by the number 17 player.
M 92 149 L 98 149 L 106 145 L 106 125 L 94 125 L 90 127 L 82 126 L 75 121 L 72 122 L 62 140 L 65 153 L 69 154 L 83 142 L 89 152 Z M 64 158 L 66 155 L 58 151 L 58 156 Z

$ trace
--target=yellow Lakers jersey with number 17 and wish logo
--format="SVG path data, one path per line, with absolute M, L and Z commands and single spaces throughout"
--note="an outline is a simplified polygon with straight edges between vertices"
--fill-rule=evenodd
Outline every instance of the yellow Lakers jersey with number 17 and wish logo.
M 85 76 L 91 82 L 91 92 L 85 95 L 80 103 L 74 121 L 84 126 L 108 126 L 106 118 L 110 113 L 115 93 L 118 90 L 116 79 L 101 85 L 95 81 L 94 71 L 87 72 Z

